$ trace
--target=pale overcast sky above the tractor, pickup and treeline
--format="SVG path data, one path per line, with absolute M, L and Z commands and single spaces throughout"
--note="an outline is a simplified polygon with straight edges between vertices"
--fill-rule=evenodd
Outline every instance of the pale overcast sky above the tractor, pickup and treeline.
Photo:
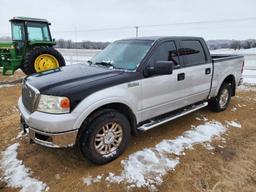
M 0 36 L 10 34 L 13 16 L 46 18 L 53 37 L 74 41 L 134 37 L 134 26 L 142 26 L 139 36 L 256 39 L 255 0 L 0 0 Z M 226 21 L 238 18 L 254 19 Z M 225 21 L 143 27 L 220 20 Z

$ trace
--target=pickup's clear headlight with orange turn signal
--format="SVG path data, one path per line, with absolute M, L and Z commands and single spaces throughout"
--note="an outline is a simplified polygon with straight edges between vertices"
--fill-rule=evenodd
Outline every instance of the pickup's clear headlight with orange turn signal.
M 67 97 L 40 95 L 37 111 L 45 113 L 69 113 L 70 100 Z

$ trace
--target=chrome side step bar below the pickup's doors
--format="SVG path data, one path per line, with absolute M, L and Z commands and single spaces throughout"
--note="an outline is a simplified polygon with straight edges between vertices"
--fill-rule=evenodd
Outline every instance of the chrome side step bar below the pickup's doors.
M 187 108 L 184 108 L 182 111 L 176 113 L 176 114 L 172 114 L 168 117 L 163 117 L 163 118 L 159 118 L 159 119 L 155 119 L 155 120 L 152 120 L 148 123 L 145 123 L 143 125 L 141 125 L 140 127 L 138 127 L 138 130 L 140 131 L 147 131 L 149 129 L 152 129 L 154 127 L 157 127 L 159 125 L 162 125 L 164 123 L 167 123 L 171 120 L 174 120 L 174 119 L 177 119 L 178 117 L 182 117 L 184 115 L 187 115 L 193 111 L 196 111 L 196 110 L 199 110 L 201 108 L 204 108 L 208 105 L 208 102 L 205 101 L 203 103 L 199 103 L 199 104 L 196 104 L 196 105 L 191 105 Z

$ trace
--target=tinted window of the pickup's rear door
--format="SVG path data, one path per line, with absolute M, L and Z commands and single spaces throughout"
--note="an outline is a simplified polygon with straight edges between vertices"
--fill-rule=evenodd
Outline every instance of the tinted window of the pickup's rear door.
M 183 58 L 185 66 L 199 65 L 206 63 L 206 56 L 200 41 L 198 40 L 183 40 L 181 41 L 181 49 L 179 54 Z

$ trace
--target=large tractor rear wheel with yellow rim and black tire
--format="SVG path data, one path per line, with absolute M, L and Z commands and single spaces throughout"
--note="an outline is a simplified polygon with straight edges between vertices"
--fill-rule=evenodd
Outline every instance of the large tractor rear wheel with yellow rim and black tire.
M 53 47 L 34 47 L 24 58 L 21 69 L 26 75 L 65 66 L 63 56 Z

